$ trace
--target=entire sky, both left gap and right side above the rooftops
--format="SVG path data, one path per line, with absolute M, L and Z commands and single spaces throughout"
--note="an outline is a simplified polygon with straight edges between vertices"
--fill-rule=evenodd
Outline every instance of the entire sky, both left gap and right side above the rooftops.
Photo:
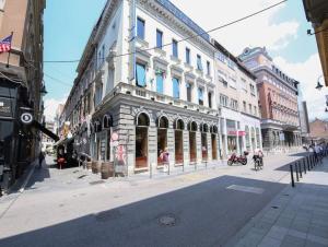
M 80 59 L 106 0 L 48 0 L 45 11 L 44 60 Z M 211 30 L 272 5 L 280 0 L 172 0 L 203 30 Z M 187 4 L 186 4 L 187 3 Z M 66 8 L 62 8 L 65 5 Z M 197 10 L 197 11 L 195 11 Z M 206 14 L 204 14 L 206 13 Z M 288 0 L 246 21 L 210 33 L 233 55 L 245 47 L 266 47 L 279 68 L 301 82 L 309 118 L 327 118 L 325 95 L 315 89 L 323 74 L 317 45 L 301 0 Z M 45 63 L 47 119 L 69 95 L 78 63 Z M 321 80 L 321 82 L 324 82 Z

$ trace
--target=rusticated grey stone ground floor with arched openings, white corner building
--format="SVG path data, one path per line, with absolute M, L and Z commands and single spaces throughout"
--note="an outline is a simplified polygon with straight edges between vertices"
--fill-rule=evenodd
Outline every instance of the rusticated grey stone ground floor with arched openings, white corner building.
M 219 117 L 150 101 L 108 104 L 91 124 L 91 155 L 96 161 L 119 162 L 129 173 L 171 165 L 194 165 L 219 160 Z M 113 140 L 117 134 L 117 141 Z M 115 138 L 116 139 L 116 138 Z M 119 161 L 118 161 L 119 160 Z

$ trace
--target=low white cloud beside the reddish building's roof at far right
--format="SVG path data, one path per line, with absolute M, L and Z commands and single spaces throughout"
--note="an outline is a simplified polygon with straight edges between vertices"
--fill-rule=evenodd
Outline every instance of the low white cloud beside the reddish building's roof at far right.
M 328 89 L 316 90 L 318 77 L 323 74 L 321 63 L 318 54 L 312 55 L 304 62 L 292 63 L 282 57 L 277 57 L 273 61 L 290 77 L 301 82 L 303 98 L 307 102 L 307 110 L 311 119 L 327 118 L 325 111 L 325 95 L 328 95 Z M 320 79 L 324 84 L 324 80 Z

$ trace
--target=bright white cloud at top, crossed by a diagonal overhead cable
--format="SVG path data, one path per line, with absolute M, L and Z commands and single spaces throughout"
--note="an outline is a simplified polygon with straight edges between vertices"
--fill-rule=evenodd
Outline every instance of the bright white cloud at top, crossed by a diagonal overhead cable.
M 172 1 L 203 30 L 211 30 L 226 24 L 278 2 L 276 0 Z M 270 50 L 284 48 L 292 39 L 296 38 L 300 26 L 293 20 L 281 23 L 272 22 L 272 17 L 279 14 L 279 11 L 284 7 L 285 3 L 278 5 L 248 20 L 213 32 L 211 36 L 236 56 L 246 46 L 266 46 Z

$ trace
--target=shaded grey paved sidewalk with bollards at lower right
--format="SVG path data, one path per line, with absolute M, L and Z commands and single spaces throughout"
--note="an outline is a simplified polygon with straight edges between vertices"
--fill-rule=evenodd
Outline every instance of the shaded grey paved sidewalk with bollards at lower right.
M 226 246 L 328 246 L 328 158 L 288 186 Z M 288 178 L 290 179 L 290 177 Z

